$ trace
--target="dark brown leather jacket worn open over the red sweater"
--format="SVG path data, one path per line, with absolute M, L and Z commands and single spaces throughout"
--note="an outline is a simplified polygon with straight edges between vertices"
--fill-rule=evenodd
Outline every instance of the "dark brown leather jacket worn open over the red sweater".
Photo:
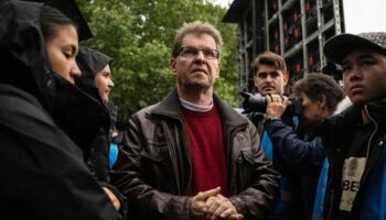
M 227 152 L 228 198 L 245 219 L 265 219 L 279 175 L 259 147 L 248 119 L 216 96 Z M 111 178 L 127 196 L 131 219 L 191 219 L 192 166 L 178 95 L 135 113 Z

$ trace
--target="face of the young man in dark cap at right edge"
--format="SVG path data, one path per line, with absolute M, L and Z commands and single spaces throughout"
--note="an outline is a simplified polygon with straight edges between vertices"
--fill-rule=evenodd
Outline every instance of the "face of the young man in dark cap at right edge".
M 343 84 L 354 105 L 386 97 L 386 57 L 368 48 L 349 53 L 342 62 Z

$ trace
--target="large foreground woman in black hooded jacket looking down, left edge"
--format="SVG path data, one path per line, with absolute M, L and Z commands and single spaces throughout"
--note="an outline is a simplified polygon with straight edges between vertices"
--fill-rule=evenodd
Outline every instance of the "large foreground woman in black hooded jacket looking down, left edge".
M 109 124 L 100 101 L 74 85 L 74 23 L 15 0 L 0 1 L 0 21 L 1 219 L 118 219 L 81 148 Z

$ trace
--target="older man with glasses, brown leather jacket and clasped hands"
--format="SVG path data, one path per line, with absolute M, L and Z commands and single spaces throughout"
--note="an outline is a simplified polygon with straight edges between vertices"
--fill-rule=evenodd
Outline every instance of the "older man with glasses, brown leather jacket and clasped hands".
M 131 117 L 112 180 L 132 219 L 265 219 L 272 208 L 278 174 L 255 127 L 213 91 L 222 43 L 211 24 L 185 23 L 175 89 Z

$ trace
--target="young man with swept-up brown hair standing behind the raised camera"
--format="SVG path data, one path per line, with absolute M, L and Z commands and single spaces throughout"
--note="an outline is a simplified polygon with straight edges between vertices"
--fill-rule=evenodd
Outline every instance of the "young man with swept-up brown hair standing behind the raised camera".
M 285 94 L 285 86 L 289 78 L 285 59 L 272 52 L 264 52 L 255 58 L 251 66 L 256 70 L 254 78 L 255 87 L 258 94 L 265 97 L 266 102 L 272 99 L 281 99 Z M 286 103 L 289 102 L 288 99 L 285 101 Z M 266 108 L 266 111 L 268 110 L 270 110 L 270 108 Z M 254 111 L 247 117 L 258 130 L 258 135 L 261 140 L 260 146 L 265 151 L 266 157 L 274 163 L 275 169 L 281 174 L 279 182 L 281 194 L 276 207 L 270 212 L 270 219 L 300 219 L 300 204 L 296 204 L 294 200 L 291 199 L 291 194 L 293 193 L 291 191 L 290 179 L 287 177 L 287 174 L 281 170 L 280 160 L 278 160 L 279 155 L 275 152 L 272 142 L 268 138 L 264 128 L 264 122 L 267 120 L 266 116 L 266 112 Z M 275 116 L 275 118 L 285 121 L 286 124 L 294 127 L 291 116 Z

